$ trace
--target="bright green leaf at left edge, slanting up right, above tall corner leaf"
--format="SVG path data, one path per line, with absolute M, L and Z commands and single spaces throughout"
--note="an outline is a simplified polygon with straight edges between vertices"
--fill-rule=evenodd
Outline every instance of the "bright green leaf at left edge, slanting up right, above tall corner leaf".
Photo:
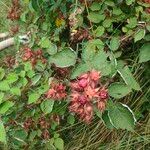
M 0 105 L 0 114 L 5 114 L 14 105 L 11 101 L 5 101 Z

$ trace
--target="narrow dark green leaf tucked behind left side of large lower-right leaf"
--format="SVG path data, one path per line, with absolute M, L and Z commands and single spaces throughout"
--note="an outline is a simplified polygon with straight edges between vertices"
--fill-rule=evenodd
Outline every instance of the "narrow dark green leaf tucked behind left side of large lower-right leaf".
M 106 125 L 106 127 L 107 127 L 108 129 L 113 129 L 113 128 L 114 128 L 113 124 L 111 123 L 111 121 L 110 121 L 110 119 L 109 119 L 108 111 L 105 111 L 105 112 L 102 114 L 102 119 L 103 119 L 103 121 L 104 121 L 104 123 L 105 123 L 105 125 Z

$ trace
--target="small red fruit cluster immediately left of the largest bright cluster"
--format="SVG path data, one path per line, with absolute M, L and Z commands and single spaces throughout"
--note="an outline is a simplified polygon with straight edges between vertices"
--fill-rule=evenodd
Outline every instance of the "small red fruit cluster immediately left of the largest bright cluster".
M 61 100 L 66 97 L 66 87 L 62 83 L 52 83 L 51 88 L 46 93 L 47 98 Z

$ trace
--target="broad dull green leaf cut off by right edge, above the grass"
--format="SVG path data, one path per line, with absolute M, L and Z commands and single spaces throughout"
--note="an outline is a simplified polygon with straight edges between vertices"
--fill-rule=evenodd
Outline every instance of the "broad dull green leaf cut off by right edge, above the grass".
M 150 60 L 150 43 L 146 43 L 140 48 L 139 63 L 147 62 L 149 60 Z

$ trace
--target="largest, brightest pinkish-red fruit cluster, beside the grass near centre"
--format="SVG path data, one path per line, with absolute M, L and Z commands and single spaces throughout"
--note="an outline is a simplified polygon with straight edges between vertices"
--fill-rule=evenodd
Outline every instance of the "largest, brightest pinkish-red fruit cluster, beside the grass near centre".
M 106 107 L 108 92 L 99 84 L 100 77 L 98 71 L 92 70 L 71 82 L 69 110 L 87 123 L 92 120 L 94 102 L 100 111 L 104 111 Z

